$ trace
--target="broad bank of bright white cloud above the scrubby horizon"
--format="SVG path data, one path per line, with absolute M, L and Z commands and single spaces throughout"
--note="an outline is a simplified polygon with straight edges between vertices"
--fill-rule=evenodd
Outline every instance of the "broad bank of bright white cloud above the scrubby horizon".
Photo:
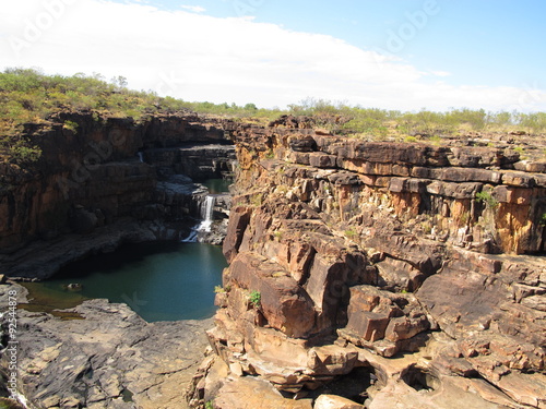
M 546 110 L 544 91 L 450 85 L 447 71 L 423 72 L 331 36 L 197 11 L 107 0 L 10 2 L 0 14 L 0 69 L 123 75 L 136 89 L 262 107 L 311 96 L 401 110 Z

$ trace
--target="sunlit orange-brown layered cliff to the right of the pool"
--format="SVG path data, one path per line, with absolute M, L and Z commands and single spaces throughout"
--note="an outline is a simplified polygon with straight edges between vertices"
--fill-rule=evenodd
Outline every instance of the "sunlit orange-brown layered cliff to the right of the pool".
M 297 122 L 233 139 L 193 407 L 546 407 L 544 167 Z

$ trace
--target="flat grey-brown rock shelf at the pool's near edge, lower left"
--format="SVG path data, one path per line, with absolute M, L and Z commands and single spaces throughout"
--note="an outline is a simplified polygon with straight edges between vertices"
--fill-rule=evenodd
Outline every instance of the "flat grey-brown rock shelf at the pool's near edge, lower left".
M 2 311 L 10 289 L 24 294 L 20 286 L 0 286 Z M 19 388 L 31 405 L 187 408 L 183 393 L 203 359 L 211 320 L 146 323 L 128 305 L 104 299 L 69 311 L 82 318 L 17 310 Z

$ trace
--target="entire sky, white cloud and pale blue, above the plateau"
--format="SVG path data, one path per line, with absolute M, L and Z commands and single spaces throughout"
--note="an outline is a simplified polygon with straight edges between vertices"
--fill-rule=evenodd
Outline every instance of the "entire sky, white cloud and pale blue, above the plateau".
M 0 0 L 0 70 L 187 101 L 546 111 L 543 0 Z

